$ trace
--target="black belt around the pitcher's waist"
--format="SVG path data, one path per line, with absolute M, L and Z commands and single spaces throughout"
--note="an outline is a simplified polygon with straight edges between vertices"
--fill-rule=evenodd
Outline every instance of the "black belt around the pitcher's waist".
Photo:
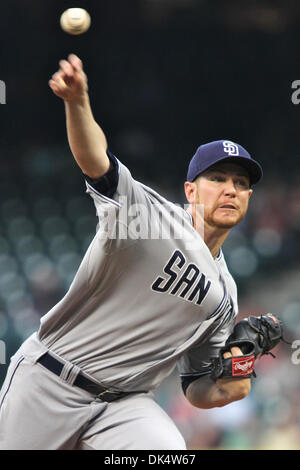
M 50 370 L 54 374 L 60 376 L 61 371 L 63 370 L 64 364 L 51 356 L 51 354 L 46 353 L 38 359 L 40 364 L 42 364 L 46 369 Z M 85 377 L 81 372 L 77 375 L 76 379 L 73 382 L 73 385 L 76 387 L 82 388 L 86 392 L 95 395 L 102 401 L 111 402 L 123 398 L 126 395 L 129 395 L 131 392 L 112 392 L 107 390 L 99 384 L 96 384 L 92 380 Z

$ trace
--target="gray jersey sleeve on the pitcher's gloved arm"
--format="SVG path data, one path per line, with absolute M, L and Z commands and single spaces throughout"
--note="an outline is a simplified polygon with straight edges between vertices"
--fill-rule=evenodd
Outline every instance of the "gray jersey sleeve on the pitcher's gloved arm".
M 192 346 L 177 362 L 184 393 L 191 382 L 211 373 L 211 357 L 218 356 L 231 334 L 234 319 L 220 327 L 213 335 Z

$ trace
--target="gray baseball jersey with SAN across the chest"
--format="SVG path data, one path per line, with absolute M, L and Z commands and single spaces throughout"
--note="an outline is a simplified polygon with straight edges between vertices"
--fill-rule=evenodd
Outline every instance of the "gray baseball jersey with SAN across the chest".
M 107 387 L 148 391 L 179 365 L 209 371 L 229 335 L 237 291 L 222 252 L 213 259 L 190 214 L 118 168 L 111 197 L 87 182 L 96 235 L 38 338 Z

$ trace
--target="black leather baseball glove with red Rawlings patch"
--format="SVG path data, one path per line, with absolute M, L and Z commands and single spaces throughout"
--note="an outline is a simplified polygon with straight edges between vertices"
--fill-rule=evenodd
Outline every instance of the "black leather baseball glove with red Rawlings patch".
M 225 346 L 217 357 L 211 358 L 213 380 L 223 377 L 256 377 L 255 359 L 270 352 L 280 340 L 283 340 L 282 321 L 273 313 L 260 317 L 250 316 L 236 323 L 233 332 L 227 338 Z M 285 341 L 286 342 L 286 341 Z M 232 346 L 238 346 L 243 356 L 224 359 L 223 354 L 230 352 Z

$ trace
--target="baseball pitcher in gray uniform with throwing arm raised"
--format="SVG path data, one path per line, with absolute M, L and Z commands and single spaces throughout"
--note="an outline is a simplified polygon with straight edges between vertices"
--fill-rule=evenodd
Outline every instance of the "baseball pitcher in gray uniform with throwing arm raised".
M 174 370 L 199 408 L 248 395 L 255 360 L 282 336 L 272 314 L 235 324 L 222 254 L 245 216 L 259 163 L 239 144 L 201 145 L 188 209 L 136 181 L 95 122 L 81 60 L 49 82 L 99 223 L 63 299 L 11 358 L 0 393 L 0 449 L 185 449 L 154 390 Z

